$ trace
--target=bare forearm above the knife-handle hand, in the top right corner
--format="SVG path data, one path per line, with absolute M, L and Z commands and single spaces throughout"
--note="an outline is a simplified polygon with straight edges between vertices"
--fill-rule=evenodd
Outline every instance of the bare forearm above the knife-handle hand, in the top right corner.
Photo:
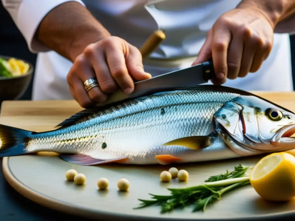
M 295 0 L 243 0 L 237 8 L 262 11 L 275 28 L 295 15 Z

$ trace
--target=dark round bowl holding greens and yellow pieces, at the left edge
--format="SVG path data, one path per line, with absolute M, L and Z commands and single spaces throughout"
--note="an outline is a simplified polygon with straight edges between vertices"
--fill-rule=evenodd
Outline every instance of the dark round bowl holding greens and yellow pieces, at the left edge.
M 17 100 L 27 90 L 32 79 L 34 67 L 30 62 L 17 57 L 0 55 L 0 58 L 6 61 L 10 58 L 15 58 L 17 60 L 22 60 L 26 62 L 30 66 L 27 73 L 23 75 L 17 77 L 0 77 L 0 103 L 4 100 Z

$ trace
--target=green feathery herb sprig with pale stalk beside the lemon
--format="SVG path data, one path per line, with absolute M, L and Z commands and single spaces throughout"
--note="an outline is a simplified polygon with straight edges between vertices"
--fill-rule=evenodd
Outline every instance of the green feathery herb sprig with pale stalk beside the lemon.
M 199 210 L 204 212 L 207 205 L 220 200 L 222 194 L 249 184 L 249 177 L 245 176 L 249 168 L 239 164 L 232 172 L 227 170 L 224 174 L 209 177 L 205 181 L 206 184 L 187 188 L 168 188 L 171 192 L 168 196 L 150 194 L 152 196 L 150 200 L 138 199 L 141 204 L 135 209 L 156 205 L 161 207 L 161 213 L 165 213 L 193 205 L 193 212 Z

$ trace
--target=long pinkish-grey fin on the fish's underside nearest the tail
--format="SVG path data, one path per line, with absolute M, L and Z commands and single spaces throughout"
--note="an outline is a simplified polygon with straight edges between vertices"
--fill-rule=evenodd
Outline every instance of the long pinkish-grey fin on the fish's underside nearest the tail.
M 91 156 L 87 156 L 83 154 L 62 154 L 62 155 L 59 155 L 59 157 L 60 159 L 63 159 L 64 161 L 74 163 L 74 164 L 80 164 L 83 166 L 106 164 L 106 163 L 119 163 L 129 159 L 127 157 L 120 157 L 116 159 L 101 160 L 101 159 L 96 159 Z

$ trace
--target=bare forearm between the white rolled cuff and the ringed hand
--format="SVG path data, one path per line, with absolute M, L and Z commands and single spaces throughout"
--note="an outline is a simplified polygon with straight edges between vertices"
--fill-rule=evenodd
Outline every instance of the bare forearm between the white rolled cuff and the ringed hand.
M 77 2 L 66 2 L 50 11 L 35 38 L 60 55 L 74 61 L 85 47 L 110 33 Z

